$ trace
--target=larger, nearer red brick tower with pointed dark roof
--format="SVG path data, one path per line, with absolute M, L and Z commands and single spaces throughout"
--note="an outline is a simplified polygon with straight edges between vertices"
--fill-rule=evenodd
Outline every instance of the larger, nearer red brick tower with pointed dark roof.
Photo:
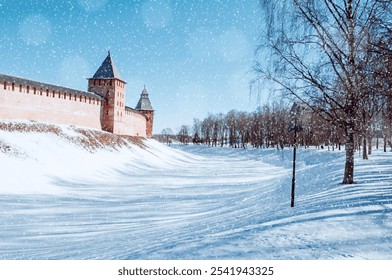
M 126 82 L 122 80 L 108 52 L 97 72 L 88 79 L 88 91 L 106 99 L 101 113 L 102 130 L 123 134 L 121 128 L 125 115 L 125 87 Z

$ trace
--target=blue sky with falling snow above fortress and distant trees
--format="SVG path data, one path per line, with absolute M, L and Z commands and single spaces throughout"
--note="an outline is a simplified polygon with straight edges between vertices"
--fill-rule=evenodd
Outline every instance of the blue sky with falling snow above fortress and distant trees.
M 0 73 L 87 90 L 108 50 L 154 133 L 208 113 L 253 111 L 257 0 L 0 0 Z

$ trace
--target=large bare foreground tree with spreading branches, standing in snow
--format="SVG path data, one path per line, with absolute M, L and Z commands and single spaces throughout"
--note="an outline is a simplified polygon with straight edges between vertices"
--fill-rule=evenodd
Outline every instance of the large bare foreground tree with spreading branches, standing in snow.
M 344 184 L 354 183 L 356 117 L 365 95 L 360 62 L 374 19 L 382 18 L 389 2 L 260 1 L 267 28 L 258 53 L 270 51 L 270 60 L 256 71 L 344 130 Z

